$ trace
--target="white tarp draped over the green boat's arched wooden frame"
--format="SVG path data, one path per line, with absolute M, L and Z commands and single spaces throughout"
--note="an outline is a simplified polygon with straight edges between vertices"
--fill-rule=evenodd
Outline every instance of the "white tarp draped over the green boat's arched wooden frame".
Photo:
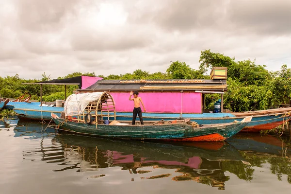
M 71 94 L 65 101 L 65 116 L 82 114 L 89 103 L 97 101 L 103 92 Z

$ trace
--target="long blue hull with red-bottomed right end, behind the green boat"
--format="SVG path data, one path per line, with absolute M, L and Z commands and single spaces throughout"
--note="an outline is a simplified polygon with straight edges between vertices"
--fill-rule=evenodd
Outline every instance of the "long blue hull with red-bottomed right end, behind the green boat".
M 34 120 L 51 120 L 51 113 L 61 116 L 64 111 L 64 107 L 50 107 L 40 106 L 40 103 L 25 103 L 25 102 L 10 102 L 14 106 L 18 118 L 20 119 L 34 119 Z M 236 112 L 236 113 L 201 113 L 191 114 L 183 113 L 182 118 L 191 119 L 198 124 L 218 124 L 218 123 L 231 123 L 233 121 L 242 121 L 247 116 L 253 116 L 253 119 L 248 123 L 242 132 L 258 132 L 260 130 L 273 129 L 287 120 L 290 120 L 291 108 L 278 108 L 261 111 L 250 112 Z M 116 120 L 118 121 L 130 121 L 132 120 L 131 112 L 116 112 Z M 114 119 L 114 114 L 110 113 L 110 119 Z M 181 118 L 181 114 L 178 113 L 143 113 L 145 121 L 159 121 L 175 120 Z M 137 120 L 138 121 L 138 120 Z

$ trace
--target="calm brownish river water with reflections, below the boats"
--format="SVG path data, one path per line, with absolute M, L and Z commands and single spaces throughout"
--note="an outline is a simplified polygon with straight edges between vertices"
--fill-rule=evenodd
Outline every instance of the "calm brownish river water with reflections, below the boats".
M 290 193 L 290 141 L 157 143 L 55 133 L 0 122 L 0 194 Z M 46 129 L 46 130 L 45 130 Z

